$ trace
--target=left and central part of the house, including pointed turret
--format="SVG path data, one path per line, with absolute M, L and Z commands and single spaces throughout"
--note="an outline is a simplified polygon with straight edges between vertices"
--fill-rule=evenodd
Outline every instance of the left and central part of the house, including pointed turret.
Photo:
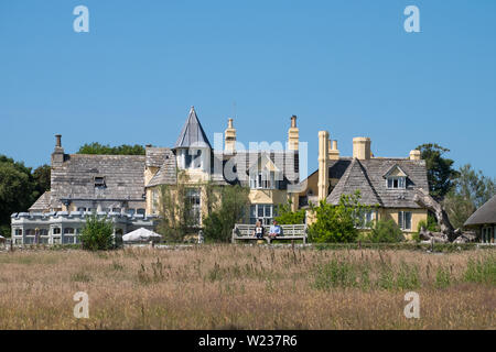
M 86 217 L 107 216 L 120 237 L 138 228 L 153 229 L 159 216 L 162 185 L 175 185 L 177 173 L 187 175 L 188 201 L 202 226 L 205 184 L 250 187 L 246 221 L 269 223 L 274 208 L 289 198 L 290 185 L 299 184 L 299 129 L 291 118 L 285 148 L 244 150 L 228 120 L 224 147 L 214 150 L 192 107 L 173 147 L 148 145 L 145 155 L 65 154 L 61 135 L 52 153 L 51 190 L 29 212 L 12 215 L 15 244 L 78 243 Z

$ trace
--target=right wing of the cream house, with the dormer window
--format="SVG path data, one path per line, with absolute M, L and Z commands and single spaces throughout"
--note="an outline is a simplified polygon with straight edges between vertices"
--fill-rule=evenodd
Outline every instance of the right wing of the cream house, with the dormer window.
M 371 209 L 364 215 L 364 223 L 392 219 L 408 237 L 428 217 L 428 210 L 413 201 L 416 188 L 429 189 L 425 162 L 420 151 L 411 151 L 408 157 L 377 157 L 370 146 L 369 138 L 355 138 L 353 156 L 341 156 L 337 141 L 320 131 L 319 169 L 302 182 L 299 205 L 321 200 L 337 205 L 342 195 L 359 190 L 360 202 Z

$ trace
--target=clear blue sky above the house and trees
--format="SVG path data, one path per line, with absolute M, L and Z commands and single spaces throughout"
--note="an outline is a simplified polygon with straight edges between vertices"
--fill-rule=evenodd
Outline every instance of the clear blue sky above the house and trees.
M 89 9 L 75 33 L 73 9 Z M 421 33 L 403 10 L 420 9 Z M 496 1 L 0 1 L 0 154 L 50 162 L 86 142 L 172 146 L 195 106 L 213 142 L 285 141 L 299 117 L 378 156 L 439 143 L 496 176 Z

